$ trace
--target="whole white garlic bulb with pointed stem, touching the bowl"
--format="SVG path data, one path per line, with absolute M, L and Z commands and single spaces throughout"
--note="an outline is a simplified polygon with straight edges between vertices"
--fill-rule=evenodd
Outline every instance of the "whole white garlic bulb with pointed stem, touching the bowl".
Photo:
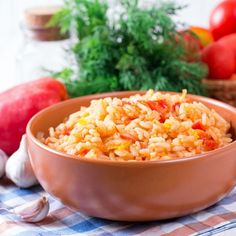
M 6 175 L 21 188 L 28 188 L 38 183 L 29 160 L 26 135 L 22 136 L 19 149 L 7 161 Z

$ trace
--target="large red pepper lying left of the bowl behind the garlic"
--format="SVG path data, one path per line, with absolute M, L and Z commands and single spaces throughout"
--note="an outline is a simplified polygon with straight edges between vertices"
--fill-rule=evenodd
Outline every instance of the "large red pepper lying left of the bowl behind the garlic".
M 0 93 L 0 149 L 11 155 L 18 149 L 30 118 L 66 98 L 66 88 L 53 78 L 20 84 Z

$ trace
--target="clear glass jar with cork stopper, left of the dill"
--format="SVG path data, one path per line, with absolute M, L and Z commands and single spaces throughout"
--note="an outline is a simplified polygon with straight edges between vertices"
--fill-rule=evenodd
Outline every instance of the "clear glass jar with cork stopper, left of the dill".
M 26 82 L 48 76 L 72 64 L 67 52 L 68 35 L 61 35 L 56 27 L 47 27 L 58 7 L 36 7 L 25 11 L 21 24 L 23 40 L 16 56 L 18 81 Z

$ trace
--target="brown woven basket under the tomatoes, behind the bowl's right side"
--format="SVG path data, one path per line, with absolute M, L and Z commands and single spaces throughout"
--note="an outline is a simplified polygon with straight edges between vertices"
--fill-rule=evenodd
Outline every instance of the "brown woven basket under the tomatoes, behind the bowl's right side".
M 210 97 L 236 107 L 236 79 L 203 80 Z

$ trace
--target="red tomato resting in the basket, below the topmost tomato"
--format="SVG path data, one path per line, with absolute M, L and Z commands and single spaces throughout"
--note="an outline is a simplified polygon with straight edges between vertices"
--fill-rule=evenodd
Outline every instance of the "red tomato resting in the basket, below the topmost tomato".
M 235 72 L 234 53 L 228 47 L 213 43 L 202 51 L 202 61 L 208 65 L 209 79 L 229 79 Z

